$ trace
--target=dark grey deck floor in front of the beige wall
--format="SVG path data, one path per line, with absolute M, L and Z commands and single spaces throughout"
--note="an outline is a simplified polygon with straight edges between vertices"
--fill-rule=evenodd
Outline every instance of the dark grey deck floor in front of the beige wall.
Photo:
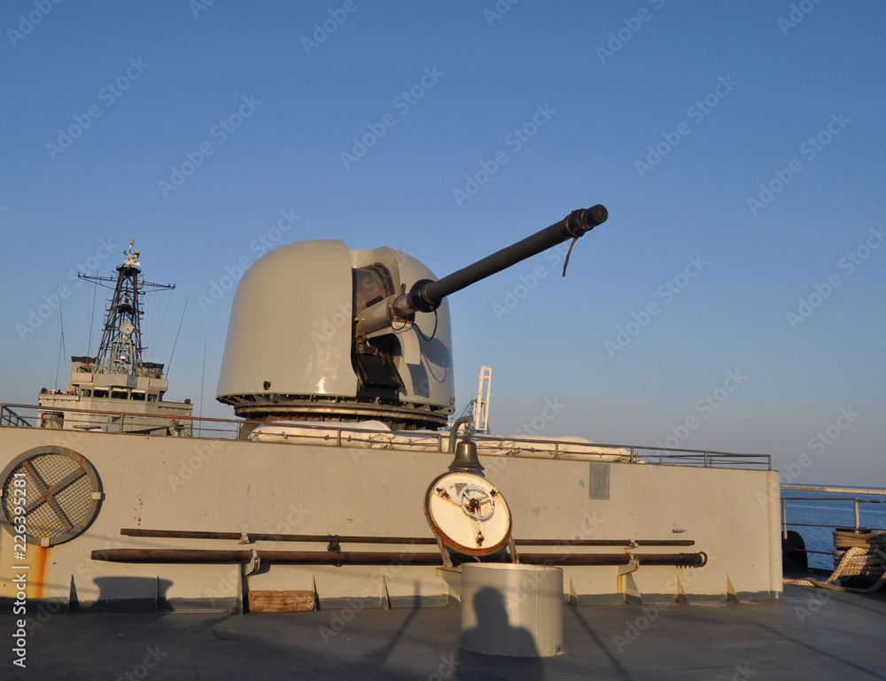
M 566 652 L 541 660 L 460 651 L 453 608 L 78 613 L 28 636 L 21 670 L 10 659 L 14 619 L 0 617 L 0 678 L 10 681 L 886 679 L 886 598 L 798 586 L 779 602 L 566 607 Z

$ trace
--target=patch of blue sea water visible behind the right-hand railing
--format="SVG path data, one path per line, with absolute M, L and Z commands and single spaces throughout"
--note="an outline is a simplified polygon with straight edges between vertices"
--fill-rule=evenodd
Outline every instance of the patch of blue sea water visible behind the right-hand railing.
M 861 527 L 886 530 L 886 495 L 786 490 L 781 492 L 781 497 L 787 499 L 788 530 L 799 532 L 807 551 L 825 553 L 809 553 L 810 568 L 834 569 L 831 554 L 834 550 L 834 528 L 855 527 L 853 499 L 863 499 L 859 503 Z M 813 500 L 801 500 L 797 497 Z M 792 524 L 795 522 L 827 527 L 801 527 Z

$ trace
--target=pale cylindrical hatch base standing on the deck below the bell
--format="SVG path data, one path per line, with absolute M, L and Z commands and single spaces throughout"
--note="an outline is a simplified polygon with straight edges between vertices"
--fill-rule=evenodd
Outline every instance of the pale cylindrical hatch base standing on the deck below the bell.
M 462 564 L 459 646 L 512 657 L 563 653 L 563 569 Z

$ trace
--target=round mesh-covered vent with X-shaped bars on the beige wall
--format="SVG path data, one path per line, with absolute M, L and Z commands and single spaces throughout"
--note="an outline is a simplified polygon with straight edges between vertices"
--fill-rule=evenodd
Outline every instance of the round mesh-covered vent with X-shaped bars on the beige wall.
M 65 447 L 35 447 L 19 454 L 0 481 L 0 524 L 12 535 L 24 524 L 27 543 L 40 546 L 62 544 L 86 530 L 102 496 L 95 467 Z

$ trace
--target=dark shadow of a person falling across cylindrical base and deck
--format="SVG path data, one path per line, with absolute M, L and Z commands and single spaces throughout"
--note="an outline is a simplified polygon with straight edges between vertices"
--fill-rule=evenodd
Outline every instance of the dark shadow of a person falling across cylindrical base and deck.
M 539 649 L 532 633 L 511 626 L 504 596 L 486 586 L 474 594 L 477 625 L 462 631 L 456 657 L 455 677 L 478 679 L 542 679 Z

